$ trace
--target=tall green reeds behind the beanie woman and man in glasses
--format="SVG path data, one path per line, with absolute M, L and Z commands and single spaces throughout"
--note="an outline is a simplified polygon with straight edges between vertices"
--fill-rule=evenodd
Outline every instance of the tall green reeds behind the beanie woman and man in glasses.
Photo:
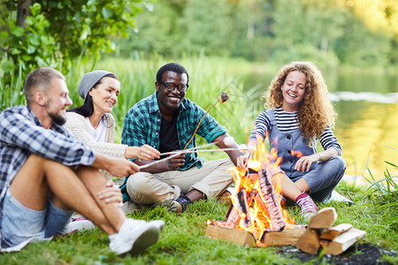
M 248 67 L 248 65 L 243 65 L 244 63 L 239 60 L 209 58 L 203 55 L 186 56 L 174 61 L 184 65 L 188 71 L 187 97 L 204 110 L 208 110 L 218 100 L 222 92 L 229 92 L 229 100 L 224 103 L 219 102 L 210 110 L 210 115 L 215 117 L 220 125 L 226 126 L 228 133 L 238 143 L 246 143 L 253 121 L 262 110 L 257 99 L 264 89 L 243 87 L 241 75 L 233 73 L 231 67 L 240 69 L 240 67 Z M 126 112 L 136 102 L 154 93 L 157 70 L 169 62 L 172 60 L 158 55 L 142 59 L 138 54 L 131 58 L 106 57 L 96 64 L 90 64 L 88 61 L 78 58 L 73 64 L 73 68 L 65 74 L 73 107 L 83 103 L 77 93 L 77 87 L 79 87 L 80 79 L 85 72 L 98 69 L 115 72 L 121 82 L 119 102 L 112 110 L 112 115 L 117 121 L 116 140 L 118 141 Z M 0 110 L 25 103 L 22 92 L 24 80 L 21 76 L 11 76 L 11 80 L 11 87 L 4 86 L 3 79 L 0 82 Z M 203 140 L 198 139 L 198 141 L 200 143 Z

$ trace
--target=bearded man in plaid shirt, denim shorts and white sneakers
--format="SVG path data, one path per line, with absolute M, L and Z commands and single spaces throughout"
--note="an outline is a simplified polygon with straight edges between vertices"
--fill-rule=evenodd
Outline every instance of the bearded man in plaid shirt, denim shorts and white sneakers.
M 62 126 L 72 104 L 64 76 L 40 68 L 27 77 L 24 93 L 27 106 L 0 114 L 0 250 L 19 251 L 32 240 L 62 234 L 73 210 L 105 231 L 117 254 L 154 244 L 164 222 L 127 219 L 119 188 L 98 170 L 123 177 L 138 167 L 94 154 Z

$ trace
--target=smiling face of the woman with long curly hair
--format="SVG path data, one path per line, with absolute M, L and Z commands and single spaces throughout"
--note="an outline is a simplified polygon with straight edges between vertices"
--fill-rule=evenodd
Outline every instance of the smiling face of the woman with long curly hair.
M 292 112 L 299 109 L 305 94 L 305 74 L 299 71 L 289 72 L 280 89 L 282 90 L 282 110 Z

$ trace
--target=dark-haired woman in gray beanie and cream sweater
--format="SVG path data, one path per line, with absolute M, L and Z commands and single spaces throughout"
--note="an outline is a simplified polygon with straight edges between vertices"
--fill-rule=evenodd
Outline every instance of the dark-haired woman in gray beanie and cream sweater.
M 111 110 L 118 102 L 119 91 L 120 81 L 113 72 L 97 70 L 86 73 L 79 85 L 79 95 L 84 103 L 68 110 L 65 126 L 72 131 L 76 140 L 98 153 L 127 159 L 159 158 L 159 151 L 149 145 L 137 148 L 114 143 L 115 119 Z M 104 172 L 104 175 L 111 177 L 108 172 Z

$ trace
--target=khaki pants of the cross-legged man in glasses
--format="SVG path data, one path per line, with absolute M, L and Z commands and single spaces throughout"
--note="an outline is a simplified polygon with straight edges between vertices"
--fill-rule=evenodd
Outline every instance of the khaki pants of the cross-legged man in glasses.
M 127 193 L 137 204 L 153 204 L 165 200 L 176 200 L 181 193 L 196 189 L 207 198 L 223 193 L 233 182 L 227 172 L 233 167 L 230 159 L 219 159 L 204 163 L 202 168 L 166 171 L 151 174 L 137 172 L 127 179 Z

